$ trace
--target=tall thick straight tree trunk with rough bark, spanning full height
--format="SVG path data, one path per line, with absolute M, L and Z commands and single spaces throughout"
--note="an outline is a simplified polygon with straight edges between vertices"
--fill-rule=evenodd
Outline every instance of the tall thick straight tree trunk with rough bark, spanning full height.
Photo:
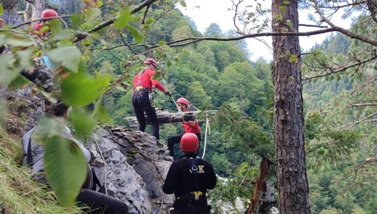
M 298 32 L 298 1 L 272 1 L 273 32 Z M 280 213 L 310 213 L 299 37 L 275 36 L 274 126 Z

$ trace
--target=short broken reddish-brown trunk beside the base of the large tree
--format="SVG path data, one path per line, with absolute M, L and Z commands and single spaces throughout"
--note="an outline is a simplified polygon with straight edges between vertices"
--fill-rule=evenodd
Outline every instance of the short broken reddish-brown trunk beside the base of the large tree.
M 267 179 L 271 161 L 263 157 L 259 166 L 259 176 L 255 180 L 254 194 L 249 205 L 248 214 L 264 214 L 275 205 L 274 181 Z

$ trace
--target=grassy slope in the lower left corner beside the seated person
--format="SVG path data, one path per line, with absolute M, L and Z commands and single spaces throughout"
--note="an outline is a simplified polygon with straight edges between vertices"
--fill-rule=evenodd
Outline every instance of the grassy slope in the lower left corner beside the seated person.
M 11 108 L 4 111 L 1 107 L 0 112 L 5 119 L 0 121 L 1 212 L 83 213 L 78 207 L 72 207 L 69 210 L 63 208 L 52 191 L 43 189 L 41 185 L 33 181 L 28 169 L 20 166 L 23 154 L 19 138 L 24 132 L 22 121 L 24 118 L 12 114 Z M 4 128 L 5 126 L 7 128 Z

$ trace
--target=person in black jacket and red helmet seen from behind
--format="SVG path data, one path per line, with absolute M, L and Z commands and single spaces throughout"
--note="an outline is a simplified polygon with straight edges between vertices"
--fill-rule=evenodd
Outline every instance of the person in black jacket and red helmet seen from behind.
M 175 195 L 171 213 L 209 213 L 206 193 L 216 186 L 216 174 L 211 164 L 196 154 L 199 141 L 194 133 L 185 133 L 179 146 L 184 154 L 172 163 L 163 185 L 164 193 Z

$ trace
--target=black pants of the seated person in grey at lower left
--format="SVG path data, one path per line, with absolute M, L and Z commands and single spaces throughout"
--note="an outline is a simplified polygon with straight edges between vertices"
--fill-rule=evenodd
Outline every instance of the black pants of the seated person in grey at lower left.
M 82 189 L 82 192 L 80 192 L 77 196 L 77 202 L 89 206 L 91 211 L 88 213 L 91 214 L 128 213 L 128 206 L 122 201 L 88 189 Z

